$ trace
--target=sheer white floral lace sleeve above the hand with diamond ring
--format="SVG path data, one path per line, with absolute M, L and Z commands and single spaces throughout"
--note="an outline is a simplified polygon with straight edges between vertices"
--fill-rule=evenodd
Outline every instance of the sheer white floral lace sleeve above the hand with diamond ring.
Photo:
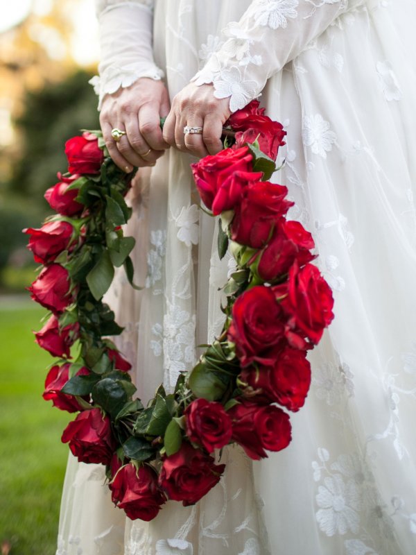
M 286 62 L 302 52 L 341 13 L 364 0 L 254 0 L 223 31 L 223 46 L 192 78 L 213 83 L 232 112 L 243 108 Z

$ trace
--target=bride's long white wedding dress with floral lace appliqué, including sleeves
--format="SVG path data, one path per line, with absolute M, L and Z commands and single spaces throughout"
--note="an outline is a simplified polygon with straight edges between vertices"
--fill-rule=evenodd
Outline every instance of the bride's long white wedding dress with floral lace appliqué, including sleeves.
M 71 458 L 57 554 L 415 554 L 415 0 L 101 0 L 98 12 L 101 96 L 162 71 L 171 96 L 198 71 L 232 110 L 261 93 L 288 133 L 275 180 L 314 234 L 336 317 L 288 449 L 252 463 L 228 448 L 216 488 L 150 523 L 112 507 L 102 467 Z M 119 274 L 108 296 L 145 401 L 223 323 L 232 264 L 190 162 L 171 150 L 139 172 L 130 232 L 146 289 Z

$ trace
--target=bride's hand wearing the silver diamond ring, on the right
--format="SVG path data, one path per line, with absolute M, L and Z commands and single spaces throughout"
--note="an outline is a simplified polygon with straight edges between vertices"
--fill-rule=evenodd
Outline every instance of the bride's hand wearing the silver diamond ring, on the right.
M 213 85 L 189 83 L 172 101 L 163 137 L 166 143 L 182 152 L 203 157 L 223 149 L 221 133 L 231 112 L 229 99 L 216 99 Z M 184 135 L 184 127 L 203 128 L 201 135 Z

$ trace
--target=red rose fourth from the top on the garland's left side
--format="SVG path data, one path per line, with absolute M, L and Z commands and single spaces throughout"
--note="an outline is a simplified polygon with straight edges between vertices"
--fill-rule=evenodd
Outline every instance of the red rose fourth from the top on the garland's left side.
M 73 293 L 70 294 L 71 282 L 69 273 L 60 264 L 51 264 L 42 270 L 37 280 L 28 290 L 31 297 L 53 313 L 62 312 L 73 302 Z

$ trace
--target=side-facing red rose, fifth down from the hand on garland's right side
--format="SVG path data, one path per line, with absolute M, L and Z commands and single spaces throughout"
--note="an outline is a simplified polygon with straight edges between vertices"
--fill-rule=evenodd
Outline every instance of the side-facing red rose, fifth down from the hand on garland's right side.
M 271 281 L 288 272 L 295 259 L 300 266 L 315 257 L 312 235 L 297 221 L 279 220 L 272 238 L 256 259 L 255 271 L 264 281 Z

